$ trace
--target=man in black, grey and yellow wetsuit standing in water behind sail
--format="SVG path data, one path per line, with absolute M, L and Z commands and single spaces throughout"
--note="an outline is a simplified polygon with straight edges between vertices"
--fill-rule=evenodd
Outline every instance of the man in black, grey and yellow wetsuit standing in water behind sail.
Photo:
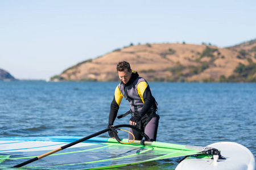
M 131 106 L 130 125 L 141 129 L 150 138 L 150 141 L 156 141 L 159 115 L 157 103 L 151 94 L 148 83 L 145 79 L 139 77 L 137 72 L 132 71 L 129 62 L 126 61 L 118 63 L 117 73 L 121 83 L 115 88 L 114 99 L 110 107 L 108 127 L 114 124 L 119 105 L 122 98 L 125 97 Z M 124 116 L 125 114 L 118 117 Z M 136 130 L 130 128 L 129 131 L 134 134 L 136 140 L 143 138 Z M 109 135 L 114 137 L 112 131 L 109 131 Z M 131 134 L 128 135 L 128 138 L 133 139 Z

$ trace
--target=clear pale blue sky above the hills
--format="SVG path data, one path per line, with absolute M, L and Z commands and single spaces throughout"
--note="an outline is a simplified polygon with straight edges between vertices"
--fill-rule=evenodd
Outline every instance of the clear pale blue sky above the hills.
M 16 79 L 49 79 L 131 43 L 254 39 L 255 0 L 0 0 L 0 69 Z

